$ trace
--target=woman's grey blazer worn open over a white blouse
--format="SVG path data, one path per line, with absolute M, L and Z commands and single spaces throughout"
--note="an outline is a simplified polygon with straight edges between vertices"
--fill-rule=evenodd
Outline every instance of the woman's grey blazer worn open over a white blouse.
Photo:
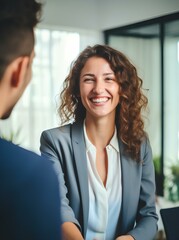
M 119 140 L 122 167 L 122 208 L 116 236 L 131 234 L 136 240 L 152 240 L 157 231 L 155 177 L 148 139 L 141 145 L 143 163 L 124 154 Z M 54 162 L 59 178 L 62 222 L 74 222 L 84 238 L 88 223 L 88 173 L 83 123 L 46 130 L 41 135 L 42 155 Z

